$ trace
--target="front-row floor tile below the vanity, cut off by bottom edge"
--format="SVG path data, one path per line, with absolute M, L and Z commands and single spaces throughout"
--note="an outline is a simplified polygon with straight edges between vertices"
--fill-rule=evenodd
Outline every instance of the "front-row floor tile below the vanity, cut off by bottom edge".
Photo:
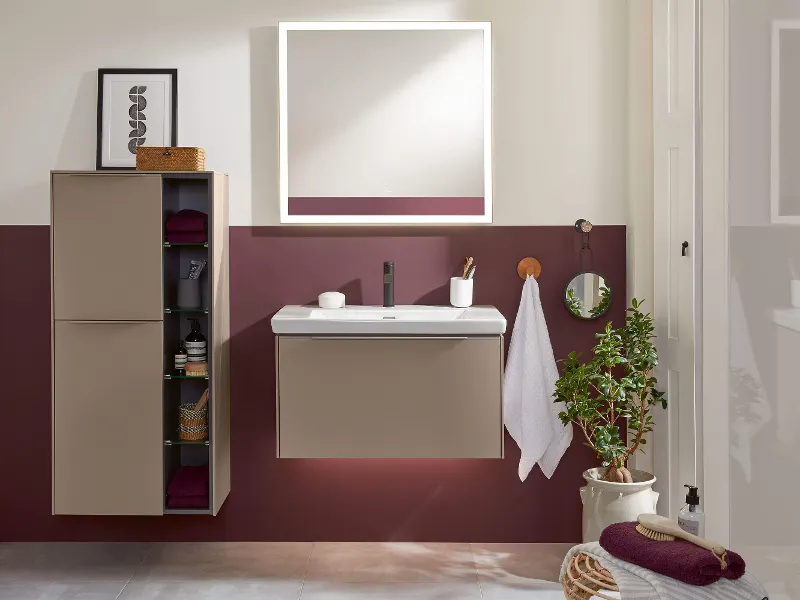
M 563 598 L 563 597 L 562 597 Z M 334 583 L 306 581 L 300 600 L 481 600 L 475 582 Z

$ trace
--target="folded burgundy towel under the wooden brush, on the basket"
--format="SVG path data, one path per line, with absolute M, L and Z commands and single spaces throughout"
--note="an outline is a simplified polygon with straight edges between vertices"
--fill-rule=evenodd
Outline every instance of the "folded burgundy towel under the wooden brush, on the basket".
M 722 577 L 739 579 L 745 570 L 744 560 L 735 552 L 728 550 L 728 568 L 723 571 L 710 550 L 685 540 L 651 540 L 636 531 L 636 523 L 609 525 L 600 534 L 600 546 L 616 558 L 690 585 L 708 585 Z

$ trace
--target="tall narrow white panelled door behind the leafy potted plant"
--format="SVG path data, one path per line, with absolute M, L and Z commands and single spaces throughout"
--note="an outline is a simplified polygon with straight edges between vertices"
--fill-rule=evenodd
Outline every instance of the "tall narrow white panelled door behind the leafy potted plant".
M 674 518 L 698 472 L 695 394 L 696 0 L 653 4 L 654 302 L 666 411 L 653 447 L 659 512 Z

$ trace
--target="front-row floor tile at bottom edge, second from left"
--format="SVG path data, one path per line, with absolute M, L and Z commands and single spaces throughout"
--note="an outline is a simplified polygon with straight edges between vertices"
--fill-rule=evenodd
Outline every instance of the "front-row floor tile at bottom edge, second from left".
M 297 600 L 302 580 L 141 581 L 134 579 L 120 600 Z

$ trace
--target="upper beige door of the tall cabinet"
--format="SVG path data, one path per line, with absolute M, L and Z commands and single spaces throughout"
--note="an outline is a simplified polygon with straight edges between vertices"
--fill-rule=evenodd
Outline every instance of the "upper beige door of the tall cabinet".
M 161 177 L 53 175 L 56 319 L 163 318 Z

